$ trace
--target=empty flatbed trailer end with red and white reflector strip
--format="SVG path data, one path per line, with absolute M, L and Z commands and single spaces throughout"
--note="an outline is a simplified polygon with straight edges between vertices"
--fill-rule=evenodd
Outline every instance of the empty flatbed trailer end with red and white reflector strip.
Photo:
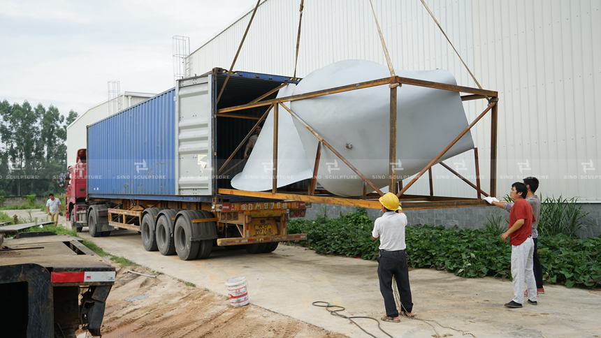
M 0 228 L 4 233 L 15 229 Z M 48 232 L 17 233 L 0 242 L 1 337 L 101 335 L 115 267 L 82 240 Z

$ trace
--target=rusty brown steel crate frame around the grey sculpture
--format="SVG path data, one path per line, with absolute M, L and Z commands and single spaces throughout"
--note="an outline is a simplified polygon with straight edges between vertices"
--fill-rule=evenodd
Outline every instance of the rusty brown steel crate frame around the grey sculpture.
M 497 123 L 498 123 L 498 92 L 491 91 L 486 89 L 479 89 L 473 87 L 463 87 L 455 84 L 446 84 L 441 82 L 431 82 L 425 80 L 417 80 L 413 78 L 403 78 L 400 76 L 391 76 L 389 78 L 381 78 L 378 80 L 371 80 L 366 82 L 359 82 L 354 84 L 348 84 L 341 87 L 333 87 L 330 89 L 323 89 L 319 91 L 312 91 L 310 93 L 286 96 L 282 98 L 274 98 L 270 100 L 261 101 L 263 98 L 272 94 L 275 90 L 280 89 L 277 87 L 273 91 L 270 91 L 268 94 L 265 94 L 255 100 L 247 103 L 245 105 L 236 105 L 229 108 L 218 109 L 215 117 L 233 117 L 232 112 L 239 112 L 240 110 L 245 110 L 248 108 L 256 108 L 256 107 L 265 107 L 268 106 L 266 112 L 259 118 L 254 127 L 249 131 L 246 137 L 240 142 L 240 145 L 236 147 L 233 153 L 229 156 L 229 158 L 225 161 L 225 163 L 217 170 L 215 177 L 217 177 L 226 167 L 226 165 L 233 159 L 233 156 L 238 152 L 238 150 L 245 144 L 248 138 L 254 133 L 254 130 L 261 122 L 266 119 L 268 112 L 273 108 L 273 118 L 274 118 L 274 128 L 273 128 L 273 185 L 271 192 L 255 192 L 255 191 L 242 191 L 237 189 L 217 189 L 217 193 L 224 195 L 232 195 L 232 196 L 249 196 L 256 198 L 273 198 L 280 200 L 298 200 L 305 202 L 314 202 L 314 203 L 325 203 L 325 204 L 333 204 L 333 205 L 347 205 L 354 207 L 368 207 L 372 209 L 379 209 L 380 203 L 377 200 L 377 197 L 383 195 L 382 191 L 380 191 L 377 186 L 375 186 L 370 180 L 365 177 L 359 170 L 357 170 L 352 163 L 347 161 L 342 154 L 336 151 L 324 138 L 322 138 L 314 129 L 306 124 L 301 117 L 298 117 L 294 111 L 284 105 L 284 102 L 298 101 L 304 100 L 307 98 L 316 98 L 319 96 L 331 95 L 342 93 L 345 91 L 353 91 L 363 88 L 377 87 L 388 84 L 390 88 L 390 131 L 389 131 L 389 163 L 396 163 L 396 117 L 397 117 L 397 90 L 398 87 L 405 85 L 418 86 L 418 87 L 426 87 L 433 89 L 442 89 L 449 91 L 457 91 L 459 93 L 466 93 L 468 95 L 461 96 L 461 101 L 472 101 L 479 99 L 486 99 L 488 101 L 488 105 L 486 109 L 482 111 L 469 125 L 465 128 L 457 137 L 445 147 L 440 154 L 438 154 L 426 167 L 424 167 L 415 177 L 405 186 L 398 186 L 395 172 L 395 166 L 389 166 L 389 191 L 396 193 L 401 202 L 403 203 L 403 209 L 405 210 L 416 210 L 416 209 L 437 209 L 437 208 L 447 208 L 447 207 L 477 207 L 477 206 L 486 206 L 488 205 L 486 202 L 481 200 L 481 195 L 484 196 L 495 196 L 496 191 L 496 161 L 497 161 Z M 461 95 L 461 94 L 460 94 Z M 309 130 L 317 139 L 319 139 L 316 158 L 313 167 L 313 177 L 310 182 L 310 188 L 307 193 L 291 193 L 290 191 L 277 191 L 277 138 L 278 138 L 278 115 L 280 114 L 280 106 L 284 108 L 287 112 L 289 112 L 292 117 L 301 122 L 307 130 Z M 451 173 L 459 177 L 466 182 L 468 185 L 472 186 L 477 192 L 477 198 L 449 198 L 442 196 L 435 196 L 433 193 L 433 181 L 432 181 L 432 170 L 431 167 L 446 154 L 453 145 L 455 145 L 458 140 L 460 140 L 465 133 L 471 130 L 477 122 L 482 119 L 488 112 L 491 112 L 491 184 L 490 184 L 490 192 L 486 193 L 481 189 L 480 179 L 479 179 L 479 157 L 477 148 L 475 148 L 475 170 L 476 170 L 476 184 L 473 184 L 465 177 L 461 176 L 458 172 L 451 169 L 449 166 L 444 164 L 442 161 L 440 164 L 449 170 Z M 236 115 L 236 117 L 242 117 L 244 115 Z M 321 155 L 321 145 L 324 145 L 328 149 L 331 150 L 338 158 L 344 162 L 351 170 L 353 170 L 361 179 L 363 179 L 363 196 L 361 198 L 342 198 L 340 196 L 335 196 L 332 194 L 320 194 L 320 196 L 315 196 L 315 186 L 317 183 L 317 168 L 319 167 L 319 159 Z M 422 175 L 424 175 L 428 171 L 429 182 L 430 182 L 430 196 L 413 196 L 413 195 L 405 195 L 407 189 L 414 184 L 417 179 L 419 179 Z M 402 182 L 402 180 L 400 181 Z M 216 183 L 216 182 L 215 182 Z M 217 186 L 215 184 L 215 186 Z M 366 193 L 367 186 L 370 186 L 374 191 L 377 192 L 378 196 L 375 196 L 373 193 Z

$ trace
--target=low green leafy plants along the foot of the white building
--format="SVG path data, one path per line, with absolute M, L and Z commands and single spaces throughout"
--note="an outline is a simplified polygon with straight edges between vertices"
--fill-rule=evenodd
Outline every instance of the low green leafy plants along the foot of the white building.
M 379 240 L 372 240 L 373 221 L 365 210 L 315 221 L 289 221 L 289 233 L 307 233 L 300 242 L 318 254 L 340 254 L 373 260 Z M 502 242 L 500 226 L 470 230 L 442 226 L 408 226 L 405 237 L 410 267 L 435 267 L 461 277 L 506 277 L 511 274 L 511 246 Z M 544 279 L 595 288 L 601 281 L 601 237 L 580 240 L 564 234 L 541 237 L 538 251 Z

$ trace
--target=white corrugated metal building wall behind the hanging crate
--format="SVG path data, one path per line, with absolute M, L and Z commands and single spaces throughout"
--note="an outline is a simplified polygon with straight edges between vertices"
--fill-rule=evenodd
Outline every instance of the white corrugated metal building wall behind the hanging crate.
M 426 3 L 481 85 L 500 93 L 497 194 L 505 195 L 521 177 L 538 175 L 544 195 L 601 200 L 601 179 L 595 179 L 601 171 L 595 137 L 601 130 L 595 113 L 601 104 L 601 0 Z M 298 5 L 261 3 L 236 70 L 292 75 Z M 375 0 L 374 7 L 395 68 L 444 68 L 459 85 L 476 87 L 419 0 Z M 250 15 L 193 52 L 191 73 L 229 67 Z M 345 59 L 386 64 L 369 1 L 305 1 L 297 75 Z M 477 101 L 464 107 L 469 121 L 484 110 Z M 488 191 L 490 118 L 482 122 L 472 135 Z M 525 133 L 530 135 L 516 140 Z M 473 181 L 473 152 L 446 163 Z M 437 196 L 476 196 L 441 166 L 433 176 Z M 407 193 L 428 194 L 427 176 Z

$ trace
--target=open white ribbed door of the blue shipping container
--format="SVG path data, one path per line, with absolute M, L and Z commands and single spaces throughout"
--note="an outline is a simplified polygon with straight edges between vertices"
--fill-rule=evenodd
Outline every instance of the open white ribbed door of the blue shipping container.
M 175 96 L 178 195 L 212 194 L 212 109 L 210 75 L 180 80 Z

